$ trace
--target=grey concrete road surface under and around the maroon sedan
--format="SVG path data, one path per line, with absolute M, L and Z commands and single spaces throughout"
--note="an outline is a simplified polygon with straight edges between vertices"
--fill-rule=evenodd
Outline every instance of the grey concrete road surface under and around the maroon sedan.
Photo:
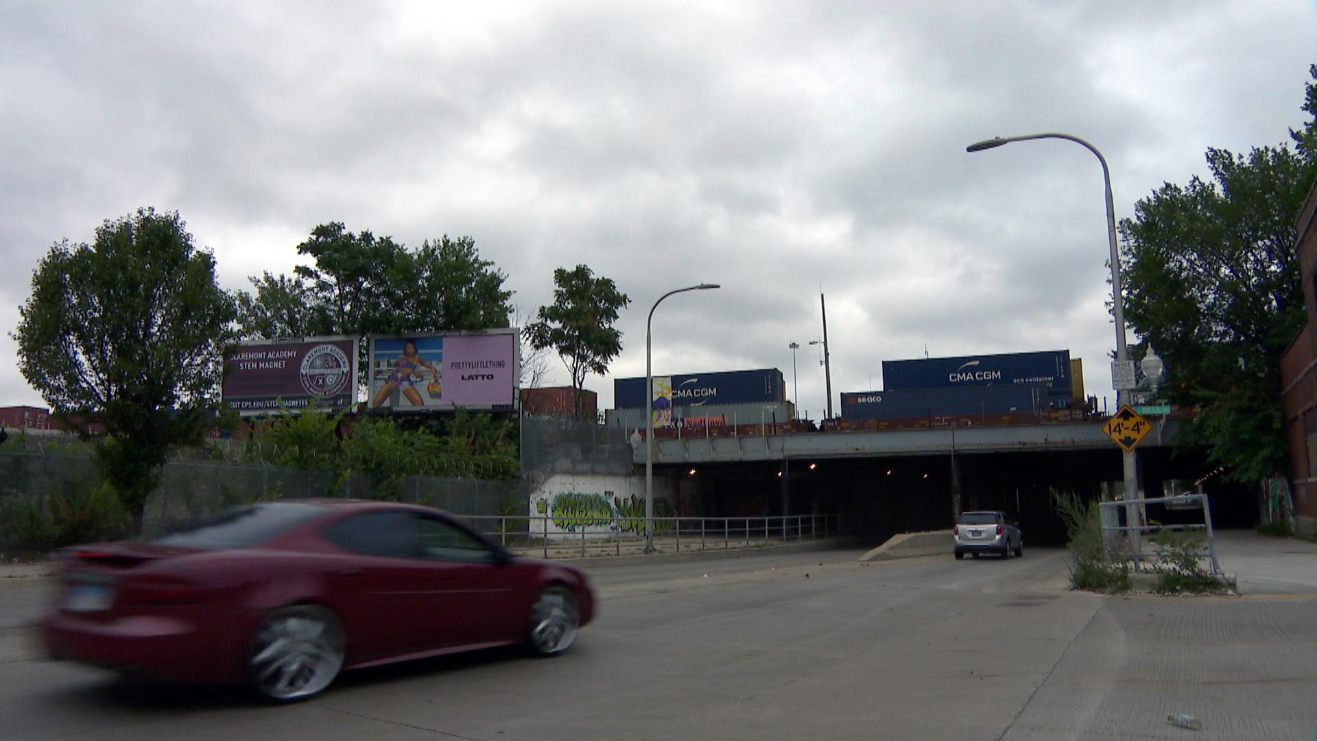
M 566 655 L 499 650 L 349 672 L 290 707 L 40 661 L 11 625 L 41 587 L 11 599 L 18 591 L 4 585 L 0 737 L 1314 737 L 1310 597 L 1068 592 L 1060 551 L 859 555 L 595 568 L 602 612 Z M 1202 730 L 1168 725 L 1169 712 L 1200 716 Z

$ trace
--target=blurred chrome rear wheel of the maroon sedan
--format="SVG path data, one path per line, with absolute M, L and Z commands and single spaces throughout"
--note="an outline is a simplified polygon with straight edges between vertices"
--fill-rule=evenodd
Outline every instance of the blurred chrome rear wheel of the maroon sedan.
M 342 628 L 333 613 L 315 605 L 277 609 L 252 645 L 248 674 L 271 700 L 300 700 L 338 676 L 344 659 Z

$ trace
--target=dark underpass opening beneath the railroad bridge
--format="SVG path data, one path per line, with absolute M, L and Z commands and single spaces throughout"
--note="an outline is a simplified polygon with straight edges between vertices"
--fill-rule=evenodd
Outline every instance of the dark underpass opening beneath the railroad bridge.
M 1146 496 L 1171 493 L 1169 481 L 1192 483 L 1212 467 L 1201 451 L 1166 447 L 1139 451 Z M 1019 522 L 1025 542 L 1063 546 L 1065 526 L 1052 492 L 1075 492 L 1087 500 L 1122 490 L 1121 451 L 1027 451 L 910 455 L 885 458 L 790 459 L 788 461 L 656 467 L 656 476 L 678 480 L 677 512 L 685 517 L 776 517 L 780 514 L 855 514 L 860 535 L 881 543 L 897 533 L 946 530 L 954 523 L 959 489 L 961 512 L 996 509 Z M 1251 527 L 1256 496 L 1249 489 L 1209 479 L 1216 527 Z M 1176 513 L 1148 506 L 1148 517 L 1177 522 Z

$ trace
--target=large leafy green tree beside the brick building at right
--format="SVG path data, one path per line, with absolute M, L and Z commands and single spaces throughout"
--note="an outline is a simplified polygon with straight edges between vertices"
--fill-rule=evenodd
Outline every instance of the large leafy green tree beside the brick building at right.
M 1314 100 L 1309 83 L 1309 113 Z M 1187 442 L 1238 481 L 1285 471 L 1279 361 L 1305 318 L 1295 218 L 1314 131 L 1291 132 L 1297 152 L 1208 149 L 1210 179 L 1166 183 L 1121 223 L 1126 319 L 1166 359 L 1163 396 L 1198 407 Z

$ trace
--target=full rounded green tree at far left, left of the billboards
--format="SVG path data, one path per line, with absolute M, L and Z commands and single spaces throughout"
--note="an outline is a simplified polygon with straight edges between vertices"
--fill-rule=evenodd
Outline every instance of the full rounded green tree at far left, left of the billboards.
M 94 440 L 140 527 L 169 451 L 200 442 L 219 405 L 236 310 L 213 256 L 176 212 L 140 208 L 107 220 L 90 245 L 51 247 L 18 312 L 18 370 Z

